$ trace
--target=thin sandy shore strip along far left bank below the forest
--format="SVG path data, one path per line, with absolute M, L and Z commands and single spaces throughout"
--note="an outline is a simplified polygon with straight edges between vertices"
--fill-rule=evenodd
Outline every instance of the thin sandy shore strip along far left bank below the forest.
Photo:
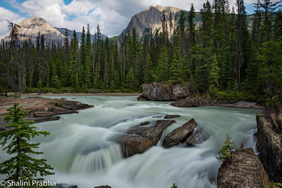
M 8 93 L 13 94 L 13 93 Z M 21 96 L 34 96 L 37 95 L 37 93 L 29 93 L 29 94 L 21 94 Z M 113 95 L 113 96 L 121 96 L 121 95 L 126 95 L 126 96 L 139 96 L 141 93 L 60 93 L 60 94 L 54 94 L 54 93 L 41 93 L 39 95 Z

